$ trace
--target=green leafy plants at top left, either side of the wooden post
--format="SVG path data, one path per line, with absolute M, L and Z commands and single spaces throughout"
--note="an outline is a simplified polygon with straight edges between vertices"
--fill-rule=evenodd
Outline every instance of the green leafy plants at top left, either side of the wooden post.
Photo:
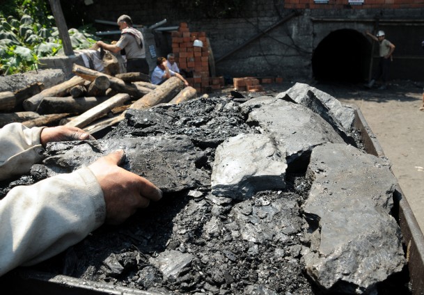
M 63 52 L 47 1 L 5 2 L 0 8 L 0 71 L 3 74 L 36 70 L 40 57 Z M 69 33 L 73 49 L 89 48 L 96 39 L 92 26 L 70 29 Z

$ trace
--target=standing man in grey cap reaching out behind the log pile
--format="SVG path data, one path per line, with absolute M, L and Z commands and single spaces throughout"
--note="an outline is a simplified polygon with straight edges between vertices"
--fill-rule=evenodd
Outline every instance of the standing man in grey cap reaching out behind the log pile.
M 121 50 L 125 50 L 127 72 L 149 74 L 149 65 L 146 61 L 146 49 L 143 44 L 143 35 L 139 30 L 132 27 L 132 19 L 128 15 L 121 15 L 118 18 L 118 26 L 121 35 L 116 44 L 109 45 L 102 41 L 97 41 L 96 45 L 115 54 Z

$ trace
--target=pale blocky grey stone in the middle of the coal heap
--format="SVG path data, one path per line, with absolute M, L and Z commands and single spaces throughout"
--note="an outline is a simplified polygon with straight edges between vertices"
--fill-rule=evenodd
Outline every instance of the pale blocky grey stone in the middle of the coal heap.
M 268 136 L 239 134 L 228 138 L 215 152 L 212 194 L 243 200 L 258 191 L 283 189 L 284 156 Z

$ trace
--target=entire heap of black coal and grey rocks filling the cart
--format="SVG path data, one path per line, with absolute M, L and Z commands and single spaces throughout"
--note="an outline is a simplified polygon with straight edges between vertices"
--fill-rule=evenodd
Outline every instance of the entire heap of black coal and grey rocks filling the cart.
M 125 168 L 165 194 L 34 268 L 152 294 L 410 294 L 400 232 L 388 214 L 395 181 L 389 165 L 361 150 L 349 108 L 328 97 L 308 100 L 320 95 L 297 85 L 244 103 L 213 97 L 129 110 L 98 141 L 100 149 L 89 142 L 49 145 L 38 178 L 124 148 Z M 359 149 L 347 144 L 352 138 Z M 225 169 L 217 175 L 222 166 L 240 177 Z M 368 175 L 378 176 L 370 182 Z M 361 216 L 375 228 L 358 225 Z

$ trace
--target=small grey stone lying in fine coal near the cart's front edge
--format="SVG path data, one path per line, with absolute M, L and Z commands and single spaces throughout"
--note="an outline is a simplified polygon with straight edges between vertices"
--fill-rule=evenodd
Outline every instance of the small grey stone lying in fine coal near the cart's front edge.
M 150 257 L 151 264 L 156 266 L 164 276 L 164 280 L 175 280 L 184 267 L 194 260 L 194 255 L 177 250 L 165 250 L 158 257 Z

